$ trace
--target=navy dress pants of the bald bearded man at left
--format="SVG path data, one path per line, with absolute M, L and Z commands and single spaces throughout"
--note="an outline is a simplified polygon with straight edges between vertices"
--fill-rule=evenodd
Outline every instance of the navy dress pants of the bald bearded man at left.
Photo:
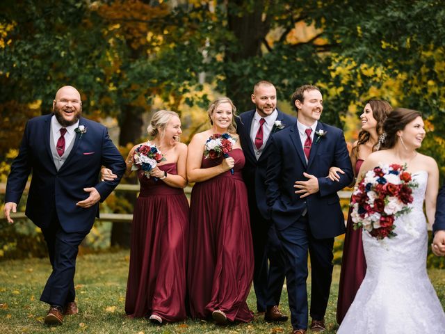
M 60 226 L 56 213 L 50 225 L 42 229 L 53 270 L 40 296 L 40 301 L 61 307 L 74 301 L 76 298 L 74 290 L 76 257 L 79 245 L 88 232 L 65 232 Z

